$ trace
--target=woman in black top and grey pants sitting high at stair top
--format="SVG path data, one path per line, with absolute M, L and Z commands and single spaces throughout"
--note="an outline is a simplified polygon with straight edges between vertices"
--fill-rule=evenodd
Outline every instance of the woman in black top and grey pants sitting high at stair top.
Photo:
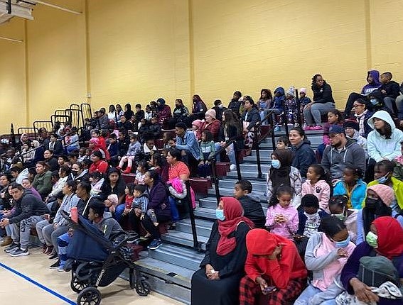
M 303 109 L 306 119 L 306 130 L 321 130 L 321 115 L 335 109 L 335 101 L 332 96 L 331 85 L 328 84 L 321 74 L 312 77 L 313 101 Z

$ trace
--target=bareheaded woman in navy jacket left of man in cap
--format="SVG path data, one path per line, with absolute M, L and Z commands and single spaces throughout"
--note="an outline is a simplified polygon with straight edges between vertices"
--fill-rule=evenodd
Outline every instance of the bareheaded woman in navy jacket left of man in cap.
M 308 167 L 316 163 L 315 153 L 311 148 L 311 142 L 306 138 L 305 131 L 301 127 L 291 128 L 289 132 L 291 151 L 294 152 L 292 166 L 299 169 L 301 177 L 306 178 Z

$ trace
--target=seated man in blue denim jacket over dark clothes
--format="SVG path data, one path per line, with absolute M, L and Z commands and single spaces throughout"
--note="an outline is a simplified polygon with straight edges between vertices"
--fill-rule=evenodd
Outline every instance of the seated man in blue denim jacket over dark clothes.
M 182 160 L 190 167 L 190 172 L 196 172 L 200 160 L 200 148 L 198 140 L 193 131 L 186 130 L 186 124 L 183 122 L 175 125 L 176 143 L 172 146 L 181 150 Z

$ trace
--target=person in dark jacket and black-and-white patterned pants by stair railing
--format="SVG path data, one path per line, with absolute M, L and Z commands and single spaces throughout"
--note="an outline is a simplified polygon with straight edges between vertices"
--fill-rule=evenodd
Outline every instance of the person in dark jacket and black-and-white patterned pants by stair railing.
M 260 121 L 259 111 L 254 105 L 254 101 L 250 96 L 245 96 L 244 112 L 242 113 L 242 123 L 244 126 L 245 146 L 247 147 L 247 155 L 252 153 L 252 146 L 255 136 L 255 124 Z

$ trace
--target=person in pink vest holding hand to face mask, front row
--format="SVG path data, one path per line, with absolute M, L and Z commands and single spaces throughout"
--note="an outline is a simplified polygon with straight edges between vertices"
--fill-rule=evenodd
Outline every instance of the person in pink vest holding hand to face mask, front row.
M 355 245 L 343 221 L 335 216 L 323 218 L 318 231 L 309 238 L 305 253 L 306 268 L 313 272 L 312 282 L 294 305 L 335 305 L 335 297 L 342 292 L 336 283 Z

